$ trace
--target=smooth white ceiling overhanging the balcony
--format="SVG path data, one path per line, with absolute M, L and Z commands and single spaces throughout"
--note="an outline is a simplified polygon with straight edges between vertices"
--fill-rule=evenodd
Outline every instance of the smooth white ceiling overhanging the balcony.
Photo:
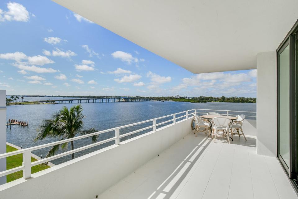
M 193 73 L 256 68 L 298 18 L 297 0 L 53 1 Z

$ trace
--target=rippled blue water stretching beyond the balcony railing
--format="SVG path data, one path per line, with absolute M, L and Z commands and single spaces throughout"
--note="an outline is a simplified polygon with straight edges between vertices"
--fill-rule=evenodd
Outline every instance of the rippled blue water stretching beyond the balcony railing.
M 31 97 L 29 97 L 31 98 Z M 49 99 L 49 97 L 38 98 L 38 99 Z M 61 98 L 62 99 L 62 98 Z M 69 99 L 69 98 L 68 98 Z M 28 99 L 26 99 L 28 100 Z M 34 100 L 34 99 L 32 99 Z M 7 120 L 8 117 L 11 119 L 17 119 L 20 121 L 29 120 L 29 127 L 21 127 L 19 125 L 12 125 L 7 128 L 7 141 L 17 145 L 23 146 L 23 148 L 28 148 L 32 146 L 37 146 L 40 144 L 49 143 L 52 141 L 59 140 L 58 138 L 46 138 L 42 141 L 34 142 L 34 138 L 37 136 L 38 126 L 42 123 L 44 119 L 51 118 L 51 115 L 57 110 L 61 109 L 63 106 L 71 107 L 77 103 L 63 103 L 63 104 L 32 104 L 32 105 L 10 105 L 7 106 Z M 217 109 L 217 110 L 239 110 L 239 111 L 256 111 L 256 104 L 242 104 L 242 103 L 187 103 L 187 102 L 110 102 L 110 103 L 81 103 L 83 106 L 83 114 L 86 116 L 84 118 L 84 129 L 95 128 L 98 131 L 106 130 L 113 127 L 123 126 L 126 124 L 136 123 L 152 118 L 157 118 L 173 113 L 178 113 L 190 109 Z M 203 112 L 203 111 L 202 111 Z M 209 112 L 209 111 L 205 111 Z M 226 112 L 219 112 L 226 113 Z M 230 113 L 230 114 L 241 114 L 241 113 Z M 182 116 L 183 114 L 177 115 L 176 117 Z M 255 115 L 254 113 L 246 113 L 245 115 Z M 164 118 L 156 121 L 160 123 L 172 119 L 173 117 Z M 183 118 L 182 118 L 183 119 Z M 251 118 L 255 119 L 255 118 Z M 169 124 L 169 123 L 167 123 Z M 164 125 L 167 125 L 164 124 Z M 133 130 L 141 129 L 144 127 L 151 126 L 152 122 L 144 123 L 133 127 L 127 127 L 120 130 L 120 134 L 131 132 Z M 160 125 L 162 127 L 164 125 Z M 145 132 L 149 132 L 152 129 L 148 129 L 143 132 L 138 132 L 136 134 L 121 138 L 120 141 L 129 139 L 131 137 L 138 136 Z M 115 132 L 107 132 L 100 135 L 97 141 L 105 140 L 115 136 Z M 91 144 L 90 139 L 80 139 L 75 141 L 75 148 Z M 75 157 L 79 157 L 86 153 L 90 153 L 95 150 L 99 150 L 103 147 L 115 144 L 115 141 L 111 141 L 100 146 L 96 146 L 84 151 L 75 153 Z M 70 144 L 69 144 L 70 148 Z M 40 149 L 33 151 L 34 154 L 40 156 L 47 154 L 49 148 Z M 60 150 L 59 153 L 62 151 Z M 66 160 L 70 160 L 71 156 L 65 156 L 52 161 L 54 164 L 60 164 Z

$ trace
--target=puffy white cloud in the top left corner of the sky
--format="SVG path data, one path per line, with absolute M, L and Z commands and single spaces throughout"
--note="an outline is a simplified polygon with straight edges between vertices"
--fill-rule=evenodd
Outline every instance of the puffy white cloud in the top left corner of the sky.
M 27 9 L 16 2 L 7 3 L 8 11 L 0 9 L 0 21 L 29 21 L 29 12 Z

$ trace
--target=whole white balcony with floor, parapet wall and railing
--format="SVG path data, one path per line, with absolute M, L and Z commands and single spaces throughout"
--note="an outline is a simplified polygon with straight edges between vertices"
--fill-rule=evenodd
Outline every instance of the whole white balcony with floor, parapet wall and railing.
M 222 115 L 255 112 L 192 109 L 160 118 L 115 127 L 93 134 L 115 137 L 42 160 L 30 162 L 31 151 L 58 142 L 79 140 L 88 134 L 6 154 L 23 154 L 23 165 L 0 172 L 4 176 L 23 170 L 23 178 L 0 186 L 1 198 L 297 198 L 276 157 L 256 154 L 256 120 L 246 119 L 243 137 L 232 144 L 216 143 L 204 133 L 191 130 L 192 113 Z M 144 125 L 121 133 L 121 129 Z M 148 130 L 151 130 L 148 132 Z M 138 134 L 140 132 L 144 132 Z M 130 139 L 124 140 L 124 137 Z M 31 174 L 31 167 L 93 146 L 115 144 Z M 33 192 L 38 190 L 38 194 Z M 47 187 L 47 188 L 46 188 Z M 65 190 L 72 191 L 65 191 Z M 55 190 L 54 192 L 52 190 Z

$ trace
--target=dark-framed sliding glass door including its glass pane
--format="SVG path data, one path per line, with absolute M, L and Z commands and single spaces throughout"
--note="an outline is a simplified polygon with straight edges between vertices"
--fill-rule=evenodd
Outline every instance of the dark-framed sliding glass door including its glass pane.
M 278 159 L 298 191 L 298 21 L 277 49 Z

